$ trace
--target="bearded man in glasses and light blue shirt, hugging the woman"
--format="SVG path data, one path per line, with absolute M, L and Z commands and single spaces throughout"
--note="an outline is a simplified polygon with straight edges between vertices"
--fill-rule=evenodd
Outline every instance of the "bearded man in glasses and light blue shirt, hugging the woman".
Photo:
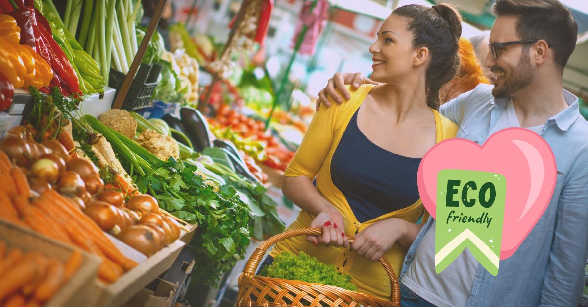
M 578 99 L 563 90 L 563 68 L 572 54 L 577 25 L 556 0 L 497 0 L 484 65 L 495 86 L 479 85 L 440 107 L 459 124 L 457 136 L 482 144 L 507 127 L 536 131 L 551 146 L 557 184 L 537 225 L 497 276 L 466 249 L 435 272 L 435 221 L 423 225 L 400 272 L 407 306 L 577 306 L 588 258 L 588 122 Z M 320 93 L 342 102 L 344 83 L 359 87 L 360 74 L 336 74 Z M 369 82 L 369 80 L 368 80 Z M 318 107 L 317 105 L 317 107 Z M 508 234 L 506 234 L 508 235 Z

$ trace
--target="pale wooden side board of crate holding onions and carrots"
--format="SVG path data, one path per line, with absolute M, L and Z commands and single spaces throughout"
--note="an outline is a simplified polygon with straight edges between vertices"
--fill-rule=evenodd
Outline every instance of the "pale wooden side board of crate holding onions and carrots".
M 181 240 L 176 240 L 139 263 L 112 284 L 106 285 L 96 281 L 92 293 L 95 301 L 87 306 L 114 307 L 123 305 L 155 278 L 167 271 L 185 245 Z

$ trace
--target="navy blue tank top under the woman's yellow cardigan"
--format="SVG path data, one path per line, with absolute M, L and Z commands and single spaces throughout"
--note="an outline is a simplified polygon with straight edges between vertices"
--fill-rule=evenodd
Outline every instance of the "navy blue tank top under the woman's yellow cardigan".
M 421 158 L 399 156 L 377 146 L 353 114 L 331 161 L 331 178 L 359 222 L 409 207 L 419 200 L 416 174 Z

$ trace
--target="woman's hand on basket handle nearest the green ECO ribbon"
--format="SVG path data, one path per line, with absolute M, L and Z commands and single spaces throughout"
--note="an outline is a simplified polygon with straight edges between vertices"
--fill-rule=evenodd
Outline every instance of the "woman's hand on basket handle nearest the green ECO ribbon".
M 351 248 L 359 255 L 377 261 L 396 241 L 405 237 L 407 234 L 406 223 L 409 222 L 399 218 L 387 218 L 376 222 L 355 236 Z M 418 227 L 420 229 L 420 225 Z M 418 231 L 416 232 L 418 233 Z

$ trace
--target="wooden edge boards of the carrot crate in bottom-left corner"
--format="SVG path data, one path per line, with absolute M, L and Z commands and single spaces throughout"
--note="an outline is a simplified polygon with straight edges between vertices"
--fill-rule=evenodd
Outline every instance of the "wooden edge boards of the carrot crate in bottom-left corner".
M 38 251 L 45 256 L 56 257 L 63 262 L 69 259 L 72 252 L 79 250 L 1 219 L 0 240 L 6 242 L 8 248 L 19 248 L 23 252 Z M 45 304 L 45 307 L 85 306 L 91 299 L 88 293 L 96 281 L 102 259 L 81 252 L 82 265 L 76 274 L 61 286 L 61 290 Z

